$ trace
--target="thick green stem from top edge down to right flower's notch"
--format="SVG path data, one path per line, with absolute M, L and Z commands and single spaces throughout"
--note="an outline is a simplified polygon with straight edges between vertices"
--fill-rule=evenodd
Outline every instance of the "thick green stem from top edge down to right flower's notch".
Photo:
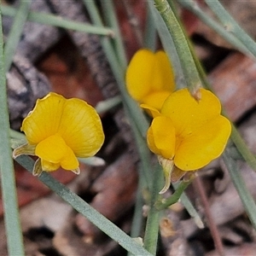
M 201 79 L 195 67 L 193 56 L 191 55 L 189 44 L 183 33 L 174 10 L 166 0 L 154 0 L 155 8 L 158 9 L 162 19 L 173 38 L 173 43 L 177 49 L 177 55 L 181 61 L 184 77 L 186 79 L 189 90 L 194 94 L 201 86 Z

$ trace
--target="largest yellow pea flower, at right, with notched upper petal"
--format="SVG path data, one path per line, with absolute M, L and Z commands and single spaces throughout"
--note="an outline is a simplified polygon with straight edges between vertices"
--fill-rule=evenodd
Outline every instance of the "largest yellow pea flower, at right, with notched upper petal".
M 188 89 L 177 90 L 167 97 L 160 112 L 142 105 L 154 117 L 148 147 L 160 156 L 164 169 L 167 166 L 166 177 L 175 166 L 180 175 L 206 166 L 223 153 L 230 137 L 230 121 L 220 114 L 218 98 L 205 89 L 200 94 L 197 101 Z

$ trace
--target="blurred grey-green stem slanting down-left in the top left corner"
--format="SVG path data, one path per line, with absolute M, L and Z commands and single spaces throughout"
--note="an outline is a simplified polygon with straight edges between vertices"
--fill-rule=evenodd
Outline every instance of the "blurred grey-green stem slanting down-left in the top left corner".
M 15 20 L 4 48 L 5 72 L 9 71 L 9 67 L 13 61 L 13 56 L 15 55 L 15 50 L 19 44 L 31 2 L 32 0 L 21 1 L 19 9 L 15 12 Z

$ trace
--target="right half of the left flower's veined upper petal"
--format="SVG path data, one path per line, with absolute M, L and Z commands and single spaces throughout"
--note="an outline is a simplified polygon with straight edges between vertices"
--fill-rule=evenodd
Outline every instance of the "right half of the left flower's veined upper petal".
M 78 157 L 96 154 L 104 141 L 102 122 L 96 110 L 75 98 L 65 102 L 58 132 Z

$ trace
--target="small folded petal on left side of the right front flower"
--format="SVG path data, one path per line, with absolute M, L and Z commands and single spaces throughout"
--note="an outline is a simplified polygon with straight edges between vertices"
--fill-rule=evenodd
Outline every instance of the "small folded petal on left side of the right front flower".
M 153 119 L 148 129 L 148 148 L 154 154 L 160 154 L 166 159 L 172 159 L 175 154 L 175 129 L 172 120 L 159 116 Z

